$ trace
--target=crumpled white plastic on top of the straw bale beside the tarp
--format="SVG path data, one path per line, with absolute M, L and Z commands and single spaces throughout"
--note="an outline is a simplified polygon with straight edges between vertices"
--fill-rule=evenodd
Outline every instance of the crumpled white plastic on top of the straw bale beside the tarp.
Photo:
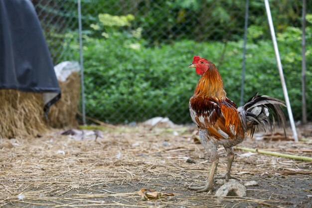
M 63 61 L 54 66 L 54 71 L 57 80 L 64 82 L 71 73 L 80 71 L 80 65 L 77 61 Z

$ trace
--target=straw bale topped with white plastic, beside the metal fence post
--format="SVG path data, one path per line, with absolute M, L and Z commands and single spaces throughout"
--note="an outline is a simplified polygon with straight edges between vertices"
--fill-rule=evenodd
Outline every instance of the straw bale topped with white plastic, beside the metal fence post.
M 48 118 L 53 128 L 77 127 L 76 116 L 80 97 L 80 74 L 73 72 L 66 81 L 59 81 L 62 96 L 51 106 Z

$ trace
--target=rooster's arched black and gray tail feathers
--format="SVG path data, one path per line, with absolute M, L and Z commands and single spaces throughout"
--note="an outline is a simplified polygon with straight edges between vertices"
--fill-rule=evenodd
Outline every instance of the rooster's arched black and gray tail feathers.
M 243 127 L 251 137 L 259 131 L 259 128 L 266 131 L 269 127 L 272 132 L 276 125 L 275 118 L 277 118 L 278 124 L 283 125 L 286 136 L 286 119 L 281 106 L 286 107 L 283 101 L 257 93 L 244 106 L 238 108 Z

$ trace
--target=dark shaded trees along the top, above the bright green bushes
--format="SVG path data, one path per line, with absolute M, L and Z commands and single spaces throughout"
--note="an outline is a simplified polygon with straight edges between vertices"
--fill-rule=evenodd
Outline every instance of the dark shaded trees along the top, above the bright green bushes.
M 96 6 L 94 6 L 96 5 Z M 276 31 L 301 26 L 302 1 L 270 1 Z M 142 27 L 149 45 L 172 40 L 239 40 L 244 34 L 245 0 L 82 0 L 84 28 L 98 12 L 133 14 L 133 27 Z M 308 11 L 312 1 L 307 2 Z M 309 21 L 310 16 L 307 16 Z M 263 0 L 251 0 L 249 25 L 258 25 L 261 37 L 270 38 Z

